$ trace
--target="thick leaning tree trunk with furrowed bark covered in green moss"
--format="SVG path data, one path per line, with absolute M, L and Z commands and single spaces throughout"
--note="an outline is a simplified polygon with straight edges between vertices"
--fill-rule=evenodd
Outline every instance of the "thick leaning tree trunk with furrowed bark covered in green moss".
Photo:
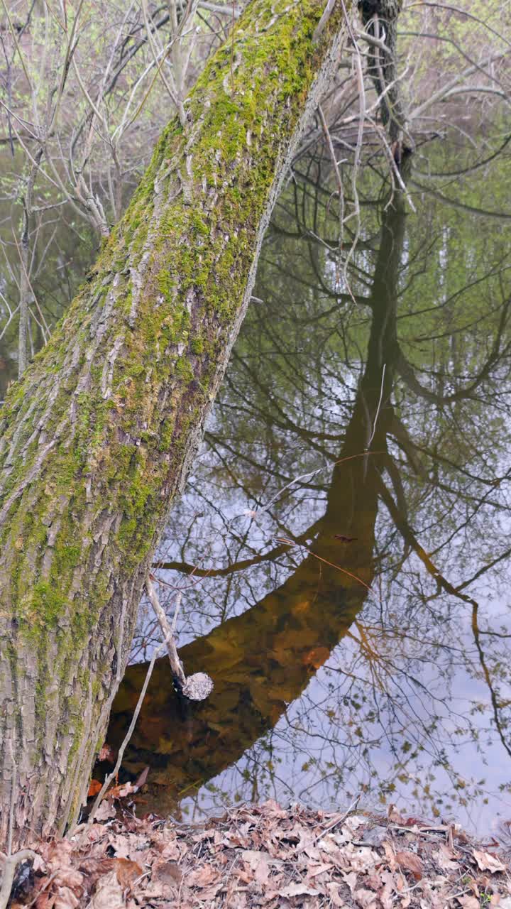
M 188 125 L 166 127 L 64 321 L 7 397 L 0 831 L 13 794 L 14 844 L 29 828 L 63 830 L 83 801 L 145 572 L 286 167 L 335 71 L 342 14 L 322 14 L 322 0 L 247 7 L 191 93 Z

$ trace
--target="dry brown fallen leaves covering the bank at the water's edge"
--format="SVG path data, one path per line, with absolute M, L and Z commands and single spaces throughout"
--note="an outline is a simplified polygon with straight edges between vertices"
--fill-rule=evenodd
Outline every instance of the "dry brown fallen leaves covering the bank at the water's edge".
M 99 815 L 72 840 L 32 844 L 13 909 L 511 909 L 501 845 L 394 809 L 346 815 L 268 801 L 175 825 L 105 801 Z

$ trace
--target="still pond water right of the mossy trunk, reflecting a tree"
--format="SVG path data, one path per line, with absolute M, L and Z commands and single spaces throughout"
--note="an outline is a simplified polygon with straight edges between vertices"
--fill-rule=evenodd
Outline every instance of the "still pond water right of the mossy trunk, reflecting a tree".
M 169 527 L 162 576 L 195 568 L 183 635 L 204 633 L 182 655 L 215 693 L 182 721 L 161 661 L 129 761 L 165 784 L 160 810 L 224 772 L 211 804 L 344 801 L 364 784 L 459 813 L 509 780 L 505 237 L 434 199 L 421 221 L 366 205 L 354 301 L 317 239 L 332 220 L 315 170 L 274 219 L 264 303 Z M 111 740 L 143 674 L 128 672 Z

